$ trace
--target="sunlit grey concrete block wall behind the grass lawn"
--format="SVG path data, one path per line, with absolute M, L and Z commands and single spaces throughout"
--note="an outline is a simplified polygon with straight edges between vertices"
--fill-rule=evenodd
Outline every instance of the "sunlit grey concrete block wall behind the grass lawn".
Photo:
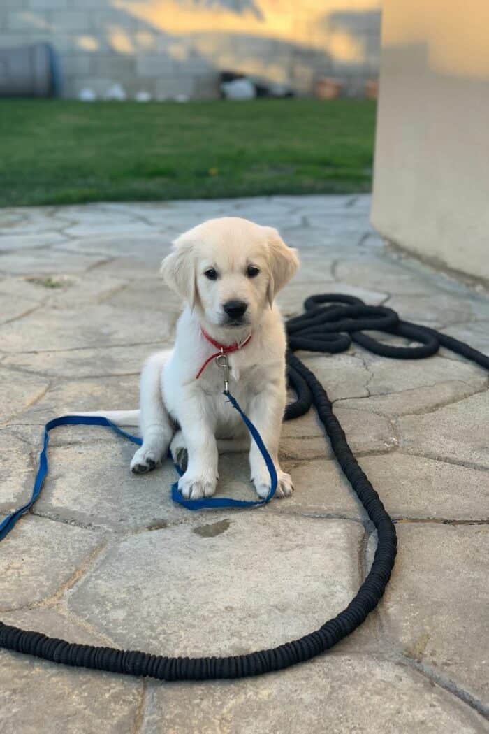
M 1 0 L 0 48 L 59 54 L 63 96 L 122 84 L 156 98 L 218 95 L 234 70 L 312 93 L 319 76 L 361 93 L 378 72 L 380 0 Z

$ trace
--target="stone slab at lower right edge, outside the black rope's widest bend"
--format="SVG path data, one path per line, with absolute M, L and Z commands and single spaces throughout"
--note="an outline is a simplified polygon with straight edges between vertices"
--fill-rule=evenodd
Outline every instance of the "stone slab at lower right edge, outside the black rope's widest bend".
M 487 705 L 488 527 L 398 523 L 397 534 L 396 566 L 380 603 L 385 633 Z

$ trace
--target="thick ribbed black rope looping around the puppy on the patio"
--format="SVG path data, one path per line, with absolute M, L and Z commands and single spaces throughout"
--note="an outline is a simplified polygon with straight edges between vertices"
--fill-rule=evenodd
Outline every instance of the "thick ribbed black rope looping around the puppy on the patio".
M 304 662 L 333 647 L 361 625 L 367 614 L 377 606 L 389 581 L 396 556 L 396 531 L 378 494 L 348 446 L 326 390 L 293 352 L 298 349 L 309 352 L 343 352 L 352 341 L 355 341 L 370 352 L 395 359 L 429 357 L 438 352 L 440 346 L 445 346 L 486 369 L 489 369 L 489 357 L 434 329 L 401 321 L 397 313 L 390 308 L 367 306 L 359 298 L 325 294 L 308 298 L 304 306 L 306 313 L 287 322 L 288 375 L 297 399 L 287 407 L 285 419 L 304 415 L 311 405 L 315 407 L 331 441 L 337 461 L 378 533 L 378 545 L 372 567 L 348 607 L 334 619 L 325 622 L 318 630 L 301 639 L 269 650 L 224 658 L 169 658 L 164 655 L 140 653 L 136 650 L 115 650 L 111 647 L 76 644 L 48 637 L 39 632 L 23 631 L 2 622 L 0 622 L 0 647 L 65 665 L 144 675 L 159 680 L 213 680 L 260 675 Z M 364 334 L 364 330 L 399 335 L 410 341 L 416 341 L 418 345 L 382 344 Z

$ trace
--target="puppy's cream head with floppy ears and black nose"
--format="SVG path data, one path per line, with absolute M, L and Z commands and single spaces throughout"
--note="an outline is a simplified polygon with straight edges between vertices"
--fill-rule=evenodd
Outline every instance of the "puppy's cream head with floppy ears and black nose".
M 296 250 L 277 230 L 223 217 L 178 237 L 161 272 L 203 322 L 249 330 L 297 268 Z

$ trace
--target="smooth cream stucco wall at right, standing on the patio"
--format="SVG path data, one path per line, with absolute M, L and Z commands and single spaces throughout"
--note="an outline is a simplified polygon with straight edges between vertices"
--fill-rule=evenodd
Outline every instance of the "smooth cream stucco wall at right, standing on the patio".
M 372 224 L 489 279 L 489 3 L 385 0 Z

